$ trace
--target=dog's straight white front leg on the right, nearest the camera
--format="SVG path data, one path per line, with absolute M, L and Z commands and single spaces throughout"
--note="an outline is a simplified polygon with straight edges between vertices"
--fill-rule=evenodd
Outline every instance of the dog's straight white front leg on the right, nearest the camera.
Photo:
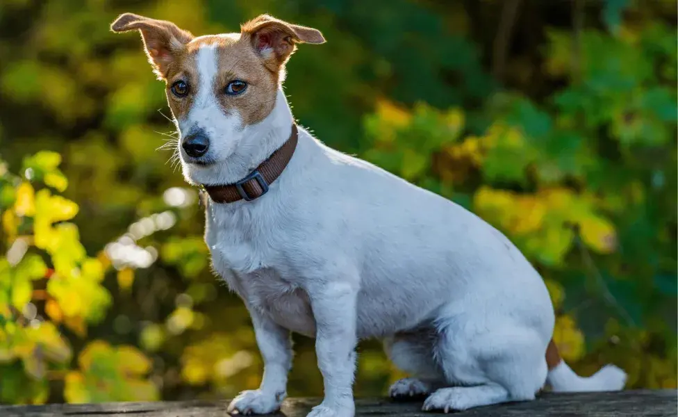
M 315 318 L 315 351 L 324 382 L 324 399 L 308 417 L 352 417 L 356 367 L 357 289 L 349 283 L 324 283 L 309 291 Z

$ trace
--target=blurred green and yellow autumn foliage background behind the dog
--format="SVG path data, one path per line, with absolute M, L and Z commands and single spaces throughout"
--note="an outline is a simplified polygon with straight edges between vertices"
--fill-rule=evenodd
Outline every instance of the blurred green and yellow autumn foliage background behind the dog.
M 579 373 L 677 385 L 671 0 L 2 0 L 0 402 L 228 398 L 261 359 L 210 272 L 133 12 L 195 35 L 320 29 L 286 92 L 326 144 L 481 215 L 543 275 Z M 169 142 L 168 142 L 169 141 Z M 161 148 L 161 149 L 158 149 Z M 463 238 L 463 236 L 450 238 Z M 492 254 L 488 254 L 492 256 Z M 321 395 L 295 336 L 290 395 Z M 402 375 L 359 347 L 356 395 Z

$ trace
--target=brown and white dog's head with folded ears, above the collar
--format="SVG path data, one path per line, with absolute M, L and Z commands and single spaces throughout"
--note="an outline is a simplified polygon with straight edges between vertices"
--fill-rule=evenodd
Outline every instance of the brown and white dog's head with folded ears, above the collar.
M 279 101 L 285 63 L 296 45 L 325 41 L 316 29 L 269 15 L 243 24 L 240 33 L 199 37 L 132 13 L 120 15 L 111 29 L 141 32 L 149 62 L 167 84 L 184 177 L 192 183 L 223 181 L 229 158 L 257 146 L 248 139 L 257 140 L 256 127 Z

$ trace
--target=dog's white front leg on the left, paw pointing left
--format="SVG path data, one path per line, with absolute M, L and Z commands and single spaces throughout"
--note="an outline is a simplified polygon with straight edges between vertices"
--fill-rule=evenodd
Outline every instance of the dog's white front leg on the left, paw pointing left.
M 259 389 L 242 391 L 229 404 L 228 412 L 268 414 L 280 408 L 287 395 L 287 375 L 292 367 L 290 332 L 256 309 L 249 309 L 256 344 L 264 361 Z

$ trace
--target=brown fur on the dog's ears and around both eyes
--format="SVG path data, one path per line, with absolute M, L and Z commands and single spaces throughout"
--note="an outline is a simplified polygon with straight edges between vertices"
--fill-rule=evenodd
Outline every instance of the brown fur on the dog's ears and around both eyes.
M 278 85 L 284 65 L 295 51 L 296 44 L 325 42 L 322 33 L 313 28 L 283 22 L 261 15 L 241 26 L 240 33 L 207 35 L 194 38 L 171 22 L 149 19 L 131 13 L 120 15 L 111 25 L 115 32 L 139 29 L 151 64 L 160 79 L 167 83 L 167 102 L 176 118 L 190 111 L 199 80 L 197 55 L 202 47 L 214 47 L 217 54 L 217 74 L 212 83 L 213 94 L 224 113 L 237 111 L 242 123 L 261 122 L 275 106 Z M 172 84 L 188 84 L 188 94 L 176 97 Z M 231 81 L 245 81 L 242 95 L 227 95 Z

